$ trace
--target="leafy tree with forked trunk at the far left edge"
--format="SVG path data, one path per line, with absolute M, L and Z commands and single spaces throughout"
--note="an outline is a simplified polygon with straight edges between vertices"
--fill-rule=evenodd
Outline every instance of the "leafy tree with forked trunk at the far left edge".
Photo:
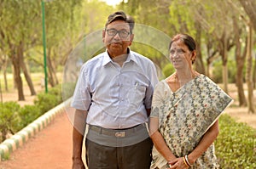
M 1 15 L 3 17 L 1 17 L 0 32 L 3 37 L 2 44 L 5 44 L 3 45 L 3 53 L 9 56 L 14 67 L 15 85 L 18 89 L 19 100 L 25 100 L 20 77 L 21 70 L 26 77 L 32 95 L 36 94 L 31 77 L 26 70 L 24 51 L 29 46 L 28 44 L 32 43 L 32 37 L 35 35 L 32 31 L 35 24 L 27 20 L 33 20 L 38 15 L 37 7 L 36 1 L 30 2 L 28 0 L 3 0 L 1 3 Z

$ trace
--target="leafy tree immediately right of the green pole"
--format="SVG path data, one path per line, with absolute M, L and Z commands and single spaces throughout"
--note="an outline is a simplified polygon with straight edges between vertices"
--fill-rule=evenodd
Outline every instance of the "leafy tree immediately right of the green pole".
M 70 36 L 69 38 L 73 37 L 73 29 L 77 29 L 73 12 L 80 3 L 81 0 L 45 3 L 47 67 L 51 87 L 59 83 L 56 76 L 56 65 L 61 62 L 62 54 L 70 52 L 73 48 L 73 44 L 68 41 L 70 45 L 67 48 L 62 48 L 64 51 L 59 50 L 60 46 L 68 40 L 68 36 Z

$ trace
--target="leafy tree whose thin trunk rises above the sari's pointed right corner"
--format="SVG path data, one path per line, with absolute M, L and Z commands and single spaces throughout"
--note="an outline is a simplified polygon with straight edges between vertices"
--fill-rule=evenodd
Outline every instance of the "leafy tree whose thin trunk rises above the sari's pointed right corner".
M 214 41 L 213 47 L 216 47 L 218 54 L 221 56 L 224 91 L 228 93 L 228 52 L 234 45 L 232 42 L 232 22 L 228 17 L 231 14 L 230 6 L 223 1 L 212 3 L 211 1 L 199 0 L 197 3 L 203 8 L 203 12 L 197 11 L 197 13 L 200 12 L 204 15 L 200 16 L 197 14 L 199 17 L 196 20 L 201 22 L 202 27 L 207 32 L 207 37 Z M 224 15 L 226 17 L 223 17 Z

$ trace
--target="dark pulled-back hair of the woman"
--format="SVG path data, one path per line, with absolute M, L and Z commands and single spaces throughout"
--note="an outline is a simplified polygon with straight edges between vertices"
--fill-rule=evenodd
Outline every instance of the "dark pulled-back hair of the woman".
M 189 51 L 196 50 L 196 44 L 193 37 L 190 37 L 187 34 L 179 33 L 172 37 L 172 41 L 169 44 L 169 49 L 172 47 L 172 42 L 176 42 L 178 40 L 181 40 L 184 42 L 184 44 L 189 48 Z

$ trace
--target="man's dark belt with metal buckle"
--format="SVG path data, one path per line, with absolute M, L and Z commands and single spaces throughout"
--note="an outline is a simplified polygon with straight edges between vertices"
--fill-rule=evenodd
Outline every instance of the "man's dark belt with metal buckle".
M 125 138 L 131 134 L 134 134 L 137 131 L 146 128 L 145 124 L 140 124 L 135 127 L 127 128 L 127 129 L 110 129 L 110 128 L 103 128 L 98 126 L 89 125 L 89 129 L 98 132 L 100 134 L 114 136 L 116 138 Z

